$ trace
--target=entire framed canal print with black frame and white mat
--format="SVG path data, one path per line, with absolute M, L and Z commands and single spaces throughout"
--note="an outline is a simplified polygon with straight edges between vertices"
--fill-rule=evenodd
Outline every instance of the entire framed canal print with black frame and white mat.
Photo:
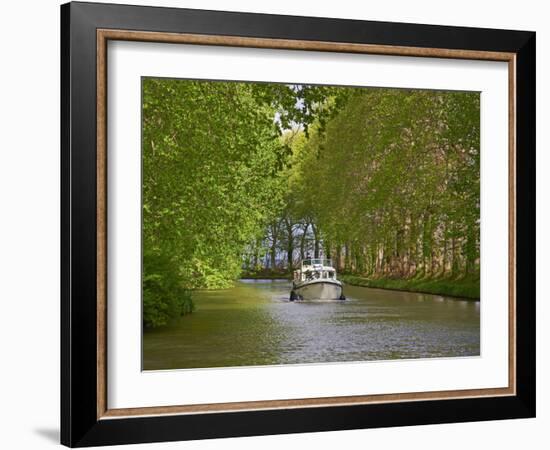
M 61 440 L 535 414 L 535 33 L 61 7 Z

